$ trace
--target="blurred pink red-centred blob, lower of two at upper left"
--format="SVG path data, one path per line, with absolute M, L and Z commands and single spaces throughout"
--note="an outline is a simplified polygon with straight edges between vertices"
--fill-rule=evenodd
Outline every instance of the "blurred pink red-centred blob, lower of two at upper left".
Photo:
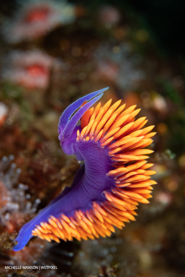
M 16 85 L 45 89 L 49 84 L 50 71 L 58 66 L 58 60 L 40 50 L 12 51 L 6 60 L 2 78 Z

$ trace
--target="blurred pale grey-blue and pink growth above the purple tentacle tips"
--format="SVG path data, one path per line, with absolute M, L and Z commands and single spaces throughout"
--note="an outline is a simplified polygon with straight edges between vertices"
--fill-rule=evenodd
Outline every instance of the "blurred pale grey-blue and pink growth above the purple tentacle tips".
M 126 42 L 101 44 L 94 56 L 98 78 L 114 82 L 120 89 L 135 89 L 145 77 L 145 72 L 138 68 L 142 56 L 134 53 L 132 45 Z

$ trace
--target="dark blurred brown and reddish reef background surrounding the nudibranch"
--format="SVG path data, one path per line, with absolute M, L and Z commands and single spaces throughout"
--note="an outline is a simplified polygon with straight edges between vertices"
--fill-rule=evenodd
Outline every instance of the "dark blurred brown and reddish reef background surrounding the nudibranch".
M 0 4 L 1 276 L 185 276 L 184 1 L 6 0 Z M 58 120 L 81 96 L 137 104 L 157 132 L 150 204 L 94 241 L 39 238 L 11 251 L 20 227 L 70 186 Z M 7 270 L 5 265 L 58 269 Z

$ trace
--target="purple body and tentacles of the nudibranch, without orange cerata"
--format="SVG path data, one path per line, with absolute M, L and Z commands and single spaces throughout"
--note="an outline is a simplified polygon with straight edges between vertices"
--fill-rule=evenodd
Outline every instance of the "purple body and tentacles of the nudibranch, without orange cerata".
M 94 141 L 76 142 L 77 130 L 79 129 L 81 132 L 81 127 L 77 125 L 77 122 L 107 89 L 95 91 L 78 99 L 62 113 L 58 124 L 60 145 L 66 154 L 74 154 L 78 160 L 84 160 L 84 165 L 77 172 L 70 188 L 65 188 L 35 218 L 23 225 L 15 239 L 18 244 L 13 247 L 14 251 L 21 250 L 33 237 L 32 230 L 35 225 L 47 221 L 51 215 L 56 218 L 60 214 L 70 217 L 76 210 L 90 209 L 92 201 L 104 201 L 102 192 L 110 190 L 111 186 L 114 185 L 113 180 L 106 177 L 106 173 L 114 168 L 106 147 L 102 149 Z M 85 100 L 89 102 L 80 108 Z M 80 109 L 75 113 L 78 108 Z M 75 114 L 73 115 L 73 113 Z

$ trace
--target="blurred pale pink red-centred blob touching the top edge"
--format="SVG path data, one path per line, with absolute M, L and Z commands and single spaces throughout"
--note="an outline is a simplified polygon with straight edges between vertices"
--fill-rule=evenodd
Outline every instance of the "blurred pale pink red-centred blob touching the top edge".
M 39 38 L 49 31 L 73 23 L 75 6 L 66 1 L 22 1 L 12 20 L 2 25 L 4 38 L 10 43 Z

